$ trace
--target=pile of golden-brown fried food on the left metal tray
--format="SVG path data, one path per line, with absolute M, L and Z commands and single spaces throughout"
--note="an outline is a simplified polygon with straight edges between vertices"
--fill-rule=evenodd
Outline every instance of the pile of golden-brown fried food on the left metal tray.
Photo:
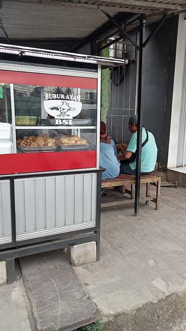
M 40 134 L 38 137 L 29 136 L 23 139 L 18 139 L 17 144 L 21 147 L 25 146 L 56 146 L 56 139 L 49 137 L 47 134 Z

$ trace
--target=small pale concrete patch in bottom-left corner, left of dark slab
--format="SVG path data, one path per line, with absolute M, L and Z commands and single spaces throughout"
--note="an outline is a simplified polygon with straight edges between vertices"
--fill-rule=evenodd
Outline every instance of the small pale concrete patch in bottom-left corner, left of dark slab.
M 31 331 L 20 280 L 0 286 L 0 331 Z

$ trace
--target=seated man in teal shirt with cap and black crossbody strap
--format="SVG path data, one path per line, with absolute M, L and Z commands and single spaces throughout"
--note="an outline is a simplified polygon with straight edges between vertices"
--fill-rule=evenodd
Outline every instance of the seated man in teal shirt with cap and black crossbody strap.
M 120 151 L 124 156 L 124 161 L 121 161 L 120 165 L 120 173 L 129 173 L 135 174 L 136 173 L 136 159 L 135 154 L 137 148 L 137 130 L 138 130 L 138 116 L 133 115 L 130 117 L 128 122 L 128 129 L 131 133 L 133 133 L 132 137 L 130 138 L 130 142 L 127 145 L 117 145 L 117 151 Z M 151 173 L 155 170 L 155 163 L 157 159 L 157 146 L 155 143 L 154 135 L 146 131 L 144 127 L 142 127 L 142 145 L 141 148 L 141 175 Z M 133 158 L 130 161 L 130 158 Z M 124 194 L 124 188 L 121 187 L 117 189 L 117 191 L 121 194 Z

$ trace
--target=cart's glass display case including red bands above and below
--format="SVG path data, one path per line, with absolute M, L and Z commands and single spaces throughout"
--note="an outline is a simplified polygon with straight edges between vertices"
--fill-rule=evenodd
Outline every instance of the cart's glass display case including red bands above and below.
M 9 123 L 12 130 L 11 148 L 3 153 L 14 155 L 15 169 L 10 173 L 98 167 L 97 79 L 33 77 L 29 72 L 12 72 L 11 76 L 9 84 L 0 83 L 1 122 Z M 52 158 L 51 153 L 55 154 Z M 32 169 L 36 163 L 38 167 Z

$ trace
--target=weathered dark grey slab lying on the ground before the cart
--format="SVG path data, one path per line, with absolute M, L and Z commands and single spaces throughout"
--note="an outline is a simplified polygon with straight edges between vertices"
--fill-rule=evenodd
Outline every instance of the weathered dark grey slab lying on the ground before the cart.
M 56 330 L 59 320 L 59 330 L 71 331 L 99 319 L 62 250 L 23 257 L 19 263 L 38 331 Z

